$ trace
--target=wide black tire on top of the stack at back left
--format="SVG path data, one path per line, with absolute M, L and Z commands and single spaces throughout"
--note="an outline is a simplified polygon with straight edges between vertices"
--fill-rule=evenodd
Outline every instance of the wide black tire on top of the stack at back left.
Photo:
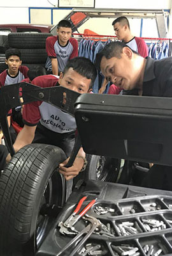
M 8 44 L 17 49 L 45 49 L 45 41 L 51 33 L 10 33 Z

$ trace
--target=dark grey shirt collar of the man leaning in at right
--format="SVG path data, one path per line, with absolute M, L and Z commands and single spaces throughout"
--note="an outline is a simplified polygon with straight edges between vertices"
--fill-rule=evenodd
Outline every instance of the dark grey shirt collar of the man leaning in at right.
M 154 74 L 154 65 L 155 65 L 155 60 L 147 57 L 147 63 L 145 66 L 145 72 L 144 72 L 144 76 L 143 76 L 143 83 L 144 82 L 148 82 L 150 80 L 153 80 L 155 78 L 155 74 Z

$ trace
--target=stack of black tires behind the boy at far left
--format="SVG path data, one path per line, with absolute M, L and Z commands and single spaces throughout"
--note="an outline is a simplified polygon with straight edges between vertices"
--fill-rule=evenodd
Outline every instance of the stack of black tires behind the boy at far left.
M 22 65 L 32 67 L 41 65 L 45 67 L 47 52 L 45 42 L 51 33 L 10 33 L 8 44 L 10 48 L 17 48 L 22 53 Z

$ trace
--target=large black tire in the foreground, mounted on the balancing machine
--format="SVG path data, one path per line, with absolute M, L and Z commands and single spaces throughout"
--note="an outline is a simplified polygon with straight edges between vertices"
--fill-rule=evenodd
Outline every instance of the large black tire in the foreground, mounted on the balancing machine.
M 0 177 L 0 255 L 35 255 L 57 217 L 47 204 L 65 202 L 66 182 L 57 172 L 64 159 L 61 148 L 45 144 L 27 145 L 12 157 Z

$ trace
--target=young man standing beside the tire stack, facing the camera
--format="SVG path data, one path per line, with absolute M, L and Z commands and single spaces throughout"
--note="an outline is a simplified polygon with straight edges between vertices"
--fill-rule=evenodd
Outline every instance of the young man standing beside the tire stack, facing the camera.
M 78 42 L 71 38 L 71 22 L 61 20 L 57 25 L 57 36 L 46 40 L 47 62 L 45 68 L 49 74 L 58 75 L 64 70 L 68 60 L 78 56 Z

